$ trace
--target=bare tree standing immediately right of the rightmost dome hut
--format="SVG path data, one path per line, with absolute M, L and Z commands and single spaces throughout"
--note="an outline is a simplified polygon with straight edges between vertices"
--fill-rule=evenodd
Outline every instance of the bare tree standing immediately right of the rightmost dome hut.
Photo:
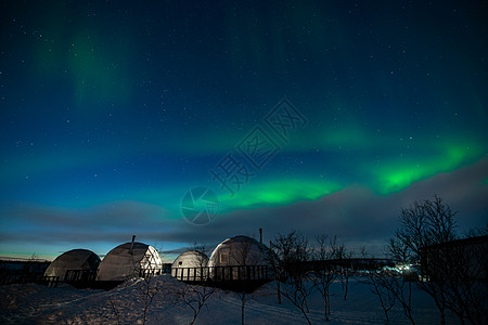
M 284 284 L 280 286 L 281 295 L 298 308 L 310 324 L 307 299 L 313 291 L 313 284 L 308 278 L 305 263 L 310 260 L 308 239 L 292 231 L 286 235 L 279 235 L 273 240 L 272 250 L 284 271 Z

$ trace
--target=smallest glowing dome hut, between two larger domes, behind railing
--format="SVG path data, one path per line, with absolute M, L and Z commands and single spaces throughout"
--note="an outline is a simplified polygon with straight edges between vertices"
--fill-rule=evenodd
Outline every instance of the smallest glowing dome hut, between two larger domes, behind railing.
M 208 257 L 198 250 L 181 253 L 171 265 L 171 275 L 181 281 L 203 281 L 208 278 Z

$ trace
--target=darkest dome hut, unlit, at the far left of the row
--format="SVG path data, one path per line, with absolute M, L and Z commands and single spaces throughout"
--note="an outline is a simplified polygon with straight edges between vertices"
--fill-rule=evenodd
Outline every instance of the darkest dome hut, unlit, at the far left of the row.
M 73 249 L 63 252 L 51 262 L 44 272 L 44 276 L 57 276 L 65 280 L 67 271 L 97 272 L 100 265 L 100 258 L 97 253 L 88 249 Z

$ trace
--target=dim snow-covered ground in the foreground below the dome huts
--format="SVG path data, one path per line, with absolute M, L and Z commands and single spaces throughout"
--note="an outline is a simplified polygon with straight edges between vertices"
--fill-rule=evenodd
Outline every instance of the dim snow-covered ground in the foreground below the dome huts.
M 169 275 L 152 281 L 163 288 L 147 308 L 146 324 L 189 324 L 192 311 L 175 302 L 170 291 L 180 290 L 184 284 Z M 61 284 L 49 288 L 35 284 L 0 287 L 0 324 L 142 324 L 145 283 L 130 281 L 113 290 L 76 289 Z M 385 324 L 377 298 L 364 284 L 352 280 L 346 301 L 341 284 L 333 284 L 331 294 L 331 322 L 329 324 Z M 284 298 L 283 298 L 284 299 Z M 309 300 L 312 324 L 325 324 L 320 295 Z M 118 317 L 117 317 L 118 314 Z M 401 307 L 390 312 L 391 324 L 409 324 Z M 418 324 L 439 324 L 432 299 L 414 288 L 413 316 Z M 198 315 L 196 324 L 240 324 L 241 300 L 231 291 L 217 291 L 207 308 Z M 265 285 L 253 295 L 245 307 L 246 324 L 306 324 L 304 316 L 288 301 L 278 303 L 275 289 Z M 458 324 L 448 315 L 448 324 Z

